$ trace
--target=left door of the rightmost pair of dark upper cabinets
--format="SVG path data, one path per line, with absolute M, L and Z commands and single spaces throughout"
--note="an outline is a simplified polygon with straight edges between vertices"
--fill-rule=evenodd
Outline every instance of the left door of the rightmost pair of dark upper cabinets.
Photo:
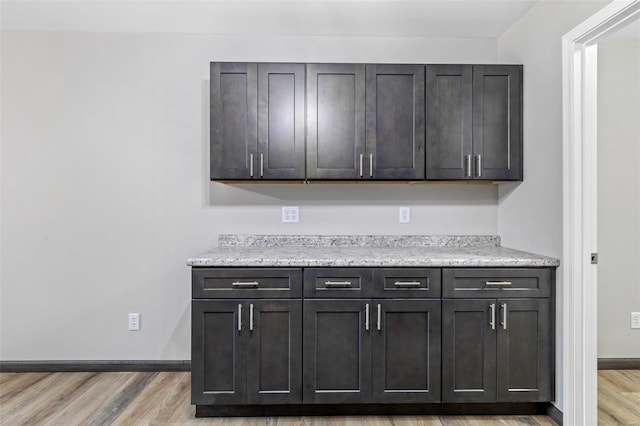
M 427 65 L 427 179 L 472 178 L 471 65 Z

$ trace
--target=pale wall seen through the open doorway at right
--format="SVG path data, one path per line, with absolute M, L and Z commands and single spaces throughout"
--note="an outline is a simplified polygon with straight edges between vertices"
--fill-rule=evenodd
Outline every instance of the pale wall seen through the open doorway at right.
M 598 43 L 598 357 L 640 358 L 640 40 Z

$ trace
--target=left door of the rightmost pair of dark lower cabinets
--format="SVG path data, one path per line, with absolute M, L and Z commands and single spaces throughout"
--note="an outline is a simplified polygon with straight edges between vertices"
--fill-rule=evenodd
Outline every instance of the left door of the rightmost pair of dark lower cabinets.
M 442 401 L 496 401 L 495 299 L 442 301 Z

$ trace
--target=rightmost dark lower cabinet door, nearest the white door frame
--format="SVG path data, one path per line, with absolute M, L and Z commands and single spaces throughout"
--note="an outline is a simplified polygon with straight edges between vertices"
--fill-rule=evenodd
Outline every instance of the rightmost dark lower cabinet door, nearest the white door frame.
M 548 299 L 498 300 L 498 401 L 551 401 L 553 330 Z

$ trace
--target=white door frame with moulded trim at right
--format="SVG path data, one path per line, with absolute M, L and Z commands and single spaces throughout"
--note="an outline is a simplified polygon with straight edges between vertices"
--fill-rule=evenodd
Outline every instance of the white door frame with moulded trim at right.
M 563 411 L 566 425 L 598 420 L 597 42 L 640 18 L 640 0 L 613 1 L 562 38 Z

